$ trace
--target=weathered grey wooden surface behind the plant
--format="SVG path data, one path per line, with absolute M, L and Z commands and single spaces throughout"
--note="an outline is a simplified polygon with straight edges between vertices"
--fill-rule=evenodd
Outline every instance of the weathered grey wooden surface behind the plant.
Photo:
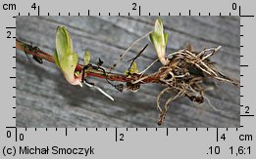
M 170 34 L 168 52 L 191 43 L 198 51 L 222 46 L 212 59 L 219 69 L 239 80 L 238 17 L 162 17 Z M 31 42 L 42 51 L 53 53 L 55 30 L 67 26 L 75 51 L 82 58 L 87 49 L 92 61 L 104 60 L 111 66 L 128 46 L 153 29 L 156 17 L 18 17 L 17 38 Z M 127 60 L 134 57 L 148 39 L 139 42 L 121 62 L 116 72 L 128 68 Z M 140 70 L 156 59 L 153 47 L 137 60 Z M 81 59 L 80 59 L 81 60 Z M 149 72 L 156 71 L 160 63 Z M 105 80 L 90 78 L 97 86 L 114 97 L 107 99 L 94 89 L 69 85 L 54 63 L 39 64 L 27 60 L 17 51 L 17 127 L 158 127 L 156 97 L 163 87 L 143 85 L 137 93 L 119 93 Z M 163 127 L 238 127 L 239 88 L 218 83 L 206 93 L 209 101 L 194 105 L 188 99 L 171 103 Z M 166 97 L 167 98 L 167 97 Z

